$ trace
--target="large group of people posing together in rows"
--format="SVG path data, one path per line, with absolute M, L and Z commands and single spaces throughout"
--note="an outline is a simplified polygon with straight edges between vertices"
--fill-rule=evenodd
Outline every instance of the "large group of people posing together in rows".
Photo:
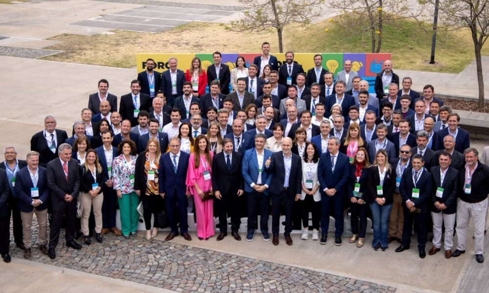
M 54 259 L 62 226 L 67 247 L 79 250 L 80 237 L 85 245 L 109 232 L 135 237 L 139 212 L 146 240 L 166 225 L 167 241 L 178 235 L 190 241 L 190 205 L 200 240 L 215 235 L 215 217 L 222 240 L 229 217 L 231 235 L 240 241 L 245 216 L 247 241 L 259 229 L 264 241 L 279 245 L 285 216 L 287 245 L 293 229 L 302 230 L 303 240 L 311 235 L 326 244 L 331 215 L 339 246 L 349 211 L 349 243 L 364 246 L 371 217 L 373 250 L 398 241 L 401 252 L 410 248 L 414 223 L 421 258 L 431 230 L 430 255 L 441 250 L 442 235 L 446 258 L 465 253 L 472 218 L 476 259 L 484 261 L 489 148 L 479 160 L 459 115 L 434 97 L 433 86 L 412 90 L 411 78 L 400 80 L 385 61 L 370 94 L 350 60 L 334 80 L 319 54 L 306 74 L 293 52 L 279 67 L 269 49 L 263 43 L 263 54 L 248 67 L 238 57 L 231 71 L 219 52 L 206 70 L 193 58 L 185 73 L 176 58 L 163 73 L 148 59 L 119 103 L 109 82 L 100 80 L 70 137 L 47 116 L 25 161 L 15 146 L 6 147 L 3 260 L 10 261 L 10 213 L 24 257 L 31 257 L 35 213 L 39 250 Z

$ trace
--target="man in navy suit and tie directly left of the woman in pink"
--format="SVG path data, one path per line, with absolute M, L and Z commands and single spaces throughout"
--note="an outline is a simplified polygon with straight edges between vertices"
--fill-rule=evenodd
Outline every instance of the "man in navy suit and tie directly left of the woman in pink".
M 170 151 L 161 155 L 159 159 L 159 194 L 166 200 L 166 209 L 170 220 L 171 232 L 165 241 L 170 241 L 178 236 L 177 220 L 179 220 L 180 235 L 187 241 L 192 237 L 188 233 L 187 206 L 190 193 L 185 192 L 187 180 L 188 159 L 186 152 L 180 151 L 180 139 L 170 139 Z

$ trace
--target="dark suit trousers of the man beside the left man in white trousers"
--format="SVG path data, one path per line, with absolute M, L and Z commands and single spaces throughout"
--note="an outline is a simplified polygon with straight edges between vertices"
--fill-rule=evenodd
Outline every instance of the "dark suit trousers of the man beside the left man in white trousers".
M 414 226 L 418 229 L 418 248 L 423 248 L 426 246 L 427 236 L 426 236 L 426 217 L 428 215 L 428 209 L 422 207 L 421 213 L 410 212 L 406 208 L 405 204 L 402 204 L 402 209 L 404 210 L 404 226 L 402 227 L 402 245 L 408 246 L 411 243 L 411 231 Z

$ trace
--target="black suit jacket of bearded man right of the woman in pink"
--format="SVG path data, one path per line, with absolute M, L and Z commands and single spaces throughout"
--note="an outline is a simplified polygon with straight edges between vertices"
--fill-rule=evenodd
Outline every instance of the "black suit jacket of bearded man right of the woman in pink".
M 212 160 L 212 190 L 221 192 L 224 197 L 236 196 L 238 189 L 244 190 L 244 180 L 241 174 L 243 155 L 233 151 L 231 170 L 227 168 L 226 156 L 227 154 L 222 151 Z

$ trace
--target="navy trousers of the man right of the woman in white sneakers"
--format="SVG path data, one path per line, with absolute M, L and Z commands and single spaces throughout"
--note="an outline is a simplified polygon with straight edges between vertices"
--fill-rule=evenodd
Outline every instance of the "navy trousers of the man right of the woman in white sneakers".
M 341 237 L 343 234 L 343 194 L 336 193 L 333 196 L 321 192 L 321 233 L 328 233 L 330 226 L 330 207 L 334 208 L 334 236 Z

